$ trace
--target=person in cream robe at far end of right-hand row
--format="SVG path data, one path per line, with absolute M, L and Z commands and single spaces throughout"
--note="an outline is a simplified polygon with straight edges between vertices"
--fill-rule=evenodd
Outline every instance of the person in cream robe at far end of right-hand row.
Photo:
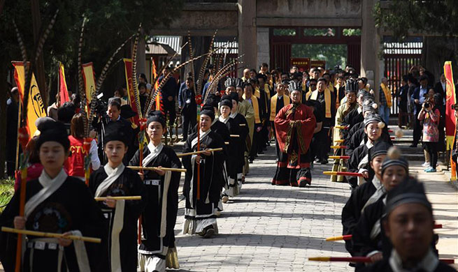
M 345 104 L 342 104 L 337 109 L 336 126 L 342 126 L 343 119 L 345 118 L 345 116 L 347 116 L 348 113 L 352 112 L 353 109 L 356 109 L 358 107 L 358 103 L 356 102 L 357 91 L 358 91 L 358 82 L 356 82 L 355 80 L 348 80 L 347 83 L 345 84 L 345 96 L 347 97 L 347 102 Z M 337 142 L 338 139 L 342 139 L 341 129 L 334 128 L 334 133 L 333 133 L 334 146 L 341 145 Z M 336 153 L 336 155 L 338 156 L 343 156 L 345 155 L 345 149 L 337 149 L 336 152 L 334 153 Z M 345 172 L 343 160 L 334 160 L 332 171 Z M 343 176 L 331 176 L 331 181 L 343 182 Z

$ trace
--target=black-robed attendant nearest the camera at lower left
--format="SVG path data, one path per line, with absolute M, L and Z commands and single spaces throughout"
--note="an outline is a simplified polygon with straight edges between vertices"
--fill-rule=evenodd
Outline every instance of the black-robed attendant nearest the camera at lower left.
M 96 258 L 106 257 L 101 250 L 106 243 L 106 228 L 90 190 L 80 179 L 68 176 L 62 167 L 70 146 L 66 128 L 49 121 L 41 123 L 38 130 L 41 135 L 36 150 L 43 172 L 38 179 L 27 181 L 24 216 L 18 216 L 19 189 L 1 213 L 0 226 L 102 239 L 102 243 L 85 243 L 27 235 L 20 271 L 99 271 Z M 0 240 L 3 269 L 15 271 L 17 234 L 2 232 Z

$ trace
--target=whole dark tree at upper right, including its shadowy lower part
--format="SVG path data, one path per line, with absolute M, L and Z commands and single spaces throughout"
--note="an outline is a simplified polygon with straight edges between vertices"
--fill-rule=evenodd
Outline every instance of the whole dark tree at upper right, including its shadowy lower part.
M 424 33 L 422 63 L 438 77 L 444 61 L 458 60 L 458 5 L 454 0 L 392 0 L 387 8 L 374 7 L 375 26 L 403 43 L 409 33 Z

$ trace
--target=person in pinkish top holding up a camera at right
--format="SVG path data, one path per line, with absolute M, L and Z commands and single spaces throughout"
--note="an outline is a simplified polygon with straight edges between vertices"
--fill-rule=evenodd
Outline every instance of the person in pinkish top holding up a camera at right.
M 440 118 L 441 112 L 435 107 L 434 99 L 427 97 L 418 113 L 418 120 L 423 121 L 423 144 L 429 153 L 429 167 L 424 169 L 427 173 L 436 172 Z

